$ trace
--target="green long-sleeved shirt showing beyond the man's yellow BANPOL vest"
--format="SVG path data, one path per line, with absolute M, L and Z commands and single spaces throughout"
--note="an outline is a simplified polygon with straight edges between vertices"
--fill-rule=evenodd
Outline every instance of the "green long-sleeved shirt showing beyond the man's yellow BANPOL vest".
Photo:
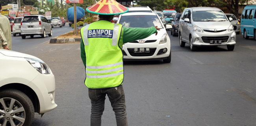
M 119 46 L 122 47 L 122 45 L 124 43 L 128 43 L 131 41 L 135 41 L 138 39 L 144 39 L 150 35 L 152 35 L 153 33 L 156 33 L 156 28 L 155 27 L 150 27 L 150 28 L 126 28 L 123 27 L 124 29 L 124 34 L 122 37 L 122 42 L 119 42 Z M 81 39 L 81 58 L 83 61 L 83 65 L 85 66 L 86 63 L 86 57 L 85 57 L 85 50 L 84 50 L 84 44 L 83 44 L 83 39 Z

